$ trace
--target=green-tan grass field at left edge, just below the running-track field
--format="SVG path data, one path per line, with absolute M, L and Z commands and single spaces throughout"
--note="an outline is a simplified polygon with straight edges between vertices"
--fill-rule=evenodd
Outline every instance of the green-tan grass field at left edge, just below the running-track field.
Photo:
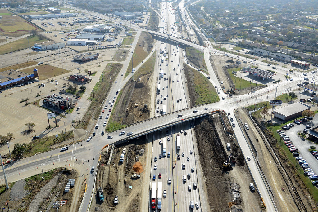
M 29 45 L 28 39 L 29 39 L 30 47 L 33 46 L 35 43 L 42 43 L 42 42 L 48 41 L 47 39 L 40 40 L 38 36 L 31 35 L 28 37 L 24 37 L 24 38 L 21 38 L 19 40 L 13 41 L 11 43 L 6 43 L 6 44 L 2 45 L 0 48 L 0 55 L 10 53 L 11 48 L 12 48 L 12 51 L 24 49 L 24 45 L 25 46 Z

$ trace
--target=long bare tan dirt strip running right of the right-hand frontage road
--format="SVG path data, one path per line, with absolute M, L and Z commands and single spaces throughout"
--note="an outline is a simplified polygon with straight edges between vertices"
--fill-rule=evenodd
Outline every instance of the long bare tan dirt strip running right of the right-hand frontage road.
M 242 123 L 247 123 L 250 128 L 247 133 L 248 137 L 255 147 L 257 160 L 271 188 L 278 211 L 299 211 L 300 209 L 297 207 L 298 204 L 296 205 L 288 189 L 290 182 L 287 181 L 286 176 L 279 170 L 276 160 L 267 148 L 265 141 L 263 141 L 263 135 L 258 133 L 252 120 L 243 109 L 239 109 L 236 116 L 237 118 L 241 118 Z M 256 142 L 256 139 L 258 139 L 258 142 Z M 285 191 L 282 191 L 282 188 L 284 188 Z M 301 205 L 299 205 L 299 207 L 301 207 Z

